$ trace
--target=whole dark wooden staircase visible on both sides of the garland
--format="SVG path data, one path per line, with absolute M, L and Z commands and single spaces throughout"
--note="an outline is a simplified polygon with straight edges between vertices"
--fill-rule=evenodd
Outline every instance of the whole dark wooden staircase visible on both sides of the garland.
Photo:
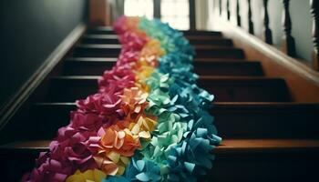
M 195 45 L 199 85 L 215 96 L 211 114 L 220 147 L 214 167 L 202 181 L 307 181 L 319 162 L 319 104 L 297 103 L 282 78 L 264 76 L 258 60 L 246 60 L 242 49 L 221 32 L 186 31 Z M 69 122 L 74 101 L 94 94 L 97 79 L 116 63 L 117 35 L 105 27 L 87 30 L 49 79 L 49 92 L 33 104 L 26 118 L 28 135 L 0 147 L 7 177 L 18 180 L 40 151 L 48 150 L 57 128 Z M 48 128 L 48 129 L 47 129 Z M 4 170 L 3 170 L 4 171 Z

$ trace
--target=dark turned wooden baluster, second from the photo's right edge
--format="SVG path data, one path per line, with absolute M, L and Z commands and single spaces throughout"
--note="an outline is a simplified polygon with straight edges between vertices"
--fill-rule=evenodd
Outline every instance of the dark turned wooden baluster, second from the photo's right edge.
M 292 20 L 289 12 L 289 0 L 283 0 L 283 52 L 295 56 L 295 45 L 292 36 Z

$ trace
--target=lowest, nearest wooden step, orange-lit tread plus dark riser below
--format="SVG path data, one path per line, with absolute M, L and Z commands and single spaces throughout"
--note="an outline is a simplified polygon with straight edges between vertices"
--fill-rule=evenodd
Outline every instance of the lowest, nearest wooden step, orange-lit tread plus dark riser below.
M 38 152 L 48 151 L 50 140 L 22 141 L 0 147 L 5 165 L 2 179 L 16 179 L 30 170 Z M 213 150 L 213 168 L 201 181 L 303 181 L 316 177 L 319 140 L 230 139 Z M 15 171 L 15 173 L 10 170 Z M 231 174 L 231 175 L 230 175 Z

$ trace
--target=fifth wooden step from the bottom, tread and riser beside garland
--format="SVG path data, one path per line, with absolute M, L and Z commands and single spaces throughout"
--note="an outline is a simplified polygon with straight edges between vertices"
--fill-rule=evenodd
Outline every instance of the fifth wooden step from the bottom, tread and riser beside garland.
M 117 57 L 120 52 L 120 45 L 98 45 L 98 44 L 81 44 L 74 49 L 74 56 L 82 57 Z M 212 45 L 197 45 L 196 57 L 211 58 L 243 58 L 242 49 L 233 47 L 220 47 Z

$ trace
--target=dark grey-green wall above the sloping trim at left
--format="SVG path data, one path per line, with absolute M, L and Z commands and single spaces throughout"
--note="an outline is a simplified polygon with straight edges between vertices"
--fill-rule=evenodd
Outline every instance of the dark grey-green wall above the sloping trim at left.
M 87 17 L 87 0 L 0 2 L 0 107 Z

